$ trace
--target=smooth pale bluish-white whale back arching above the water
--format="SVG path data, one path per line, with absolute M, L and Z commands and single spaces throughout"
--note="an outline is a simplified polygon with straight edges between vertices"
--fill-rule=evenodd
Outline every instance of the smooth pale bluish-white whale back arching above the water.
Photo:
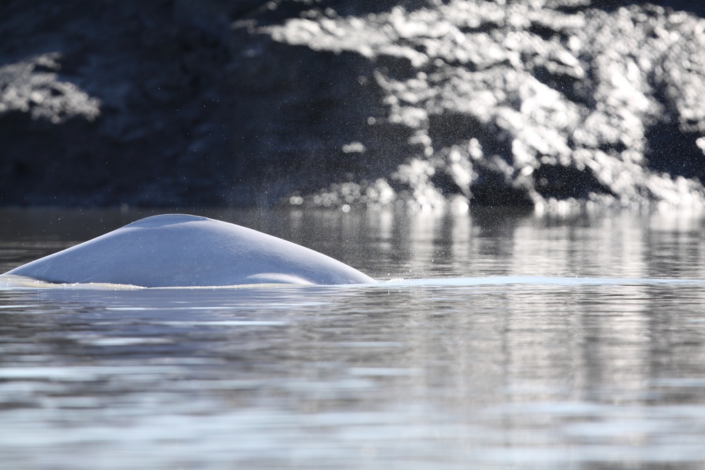
M 186 214 L 143 218 L 5 274 L 49 283 L 142 287 L 375 282 L 312 249 Z

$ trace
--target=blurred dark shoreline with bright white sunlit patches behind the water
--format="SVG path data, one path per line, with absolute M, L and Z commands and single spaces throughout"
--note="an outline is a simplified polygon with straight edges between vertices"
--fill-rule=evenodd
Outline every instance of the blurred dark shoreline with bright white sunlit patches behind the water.
M 4 2 L 0 204 L 702 206 L 704 7 L 504 3 Z

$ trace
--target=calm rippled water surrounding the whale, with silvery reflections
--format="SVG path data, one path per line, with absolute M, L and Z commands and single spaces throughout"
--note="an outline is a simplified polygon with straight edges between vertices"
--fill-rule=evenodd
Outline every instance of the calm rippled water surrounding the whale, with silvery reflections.
M 151 214 L 0 212 L 0 271 Z M 0 289 L 1 468 L 705 465 L 700 216 L 202 214 L 385 282 Z

